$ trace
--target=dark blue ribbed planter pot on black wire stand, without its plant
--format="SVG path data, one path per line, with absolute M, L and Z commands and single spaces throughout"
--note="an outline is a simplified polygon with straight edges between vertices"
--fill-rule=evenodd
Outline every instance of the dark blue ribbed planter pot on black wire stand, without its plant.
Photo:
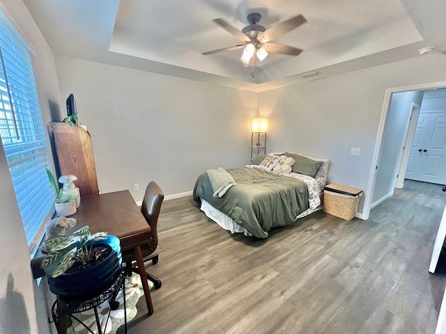
M 107 235 L 104 240 L 95 241 L 94 245 L 108 246 L 112 251 L 105 260 L 83 271 L 64 273 L 56 278 L 47 276 L 49 290 L 52 293 L 66 299 L 83 299 L 102 292 L 112 283 L 121 271 L 122 265 L 119 239 L 113 235 Z

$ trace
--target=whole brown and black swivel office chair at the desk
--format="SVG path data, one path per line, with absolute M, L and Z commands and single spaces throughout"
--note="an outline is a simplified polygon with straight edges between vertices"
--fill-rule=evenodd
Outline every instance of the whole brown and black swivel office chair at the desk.
M 158 216 L 160 216 L 160 209 L 162 205 L 162 201 L 164 200 L 164 193 L 160 186 L 158 186 L 155 182 L 151 181 L 146 188 L 146 193 L 144 194 L 144 199 L 141 205 L 141 213 L 148 225 L 150 225 L 152 230 L 151 239 L 148 240 L 147 244 L 141 246 L 142 255 L 144 257 L 144 262 L 152 261 L 152 264 L 157 264 L 159 255 L 153 254 L 155 249 L 158 246 L 158 235 L 157 235 L 157 223 Z M 127 250 L 123 252 L 123 262 L 126 262 L 127 265 L 132 265 L 136 259 L 134 258 L 133 250 Z M 137 267 L 133 267 L 131 269 L 132 272 L 138 273 Z M 151 275 L 151 273 L 146 272 L 147 279 L 153 282 L 156 289 L 161 287 L 161 280 Z

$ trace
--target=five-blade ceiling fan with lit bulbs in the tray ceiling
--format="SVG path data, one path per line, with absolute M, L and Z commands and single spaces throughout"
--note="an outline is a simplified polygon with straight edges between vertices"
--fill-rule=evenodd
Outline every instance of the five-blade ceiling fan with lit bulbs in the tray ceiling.
M 254 53 L 256 53 L 259 61 L 263 61 L 263 59 L 268 56 L 268 53 L 298 56 L 298 54 L 303 51 L 302 49 L 290 47 L 289 45 L 271 43 L 270 40 L 274 40 L 275 38 L 284 35 L 284 33 L 288 33 L 301 24 L 304 24 L 305 22 L 307 22 L 305 17 L 303 17 L 302 15 L 298 15 L 292 17 L 291 19 L 287 19 L 284 22 L 276 24 L 275 26 L 271 26 L 269 29 L 266 29 L 264 26 L 259 24 L 260 19 L 261 15 L 259 13 L 251 13 L 247 15 L 247 21 L 249 22 L 249 25 L 245 26 L 242 31 L 238 31 L 224 19 L 213 19 L 212 22 L 219 26 L 222 26 L 223 29 L 229 31 L 229 33 L 236 36 L 236 38 L 242 40 L 245 43 L 236 45 L 234 47 L 225 47 L 224 49 L 203 52 L 202 54 L 217 54 L 224 51 L 244 49 L 240 61 L 242 61 L 242 63 L 249 64 L 249 61 L 251 61 L 251 58 L 253 58 L 252 56 L 254 56 Z M 252 66 L 254 66 L 254 58 Z

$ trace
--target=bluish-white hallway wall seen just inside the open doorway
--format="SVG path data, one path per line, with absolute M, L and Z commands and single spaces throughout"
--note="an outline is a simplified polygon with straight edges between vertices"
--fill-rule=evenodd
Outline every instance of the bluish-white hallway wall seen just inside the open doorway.
M 403 157 L 412 104 L 422 105 L 423 92 L 394 93 L 390 102 L 372 205 L 393 194 Z M 408 148 L 410 150 L 410 148 Z

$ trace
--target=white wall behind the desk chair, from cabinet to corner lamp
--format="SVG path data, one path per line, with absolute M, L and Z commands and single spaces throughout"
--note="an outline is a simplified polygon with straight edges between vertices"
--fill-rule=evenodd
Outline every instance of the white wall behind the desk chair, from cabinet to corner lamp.
M 56 66 L 91 134 L 101 193 L 140 201 L 155 180 L 173 196 L 208 168 L 249 163 L 256 93 L 63 56 Z

